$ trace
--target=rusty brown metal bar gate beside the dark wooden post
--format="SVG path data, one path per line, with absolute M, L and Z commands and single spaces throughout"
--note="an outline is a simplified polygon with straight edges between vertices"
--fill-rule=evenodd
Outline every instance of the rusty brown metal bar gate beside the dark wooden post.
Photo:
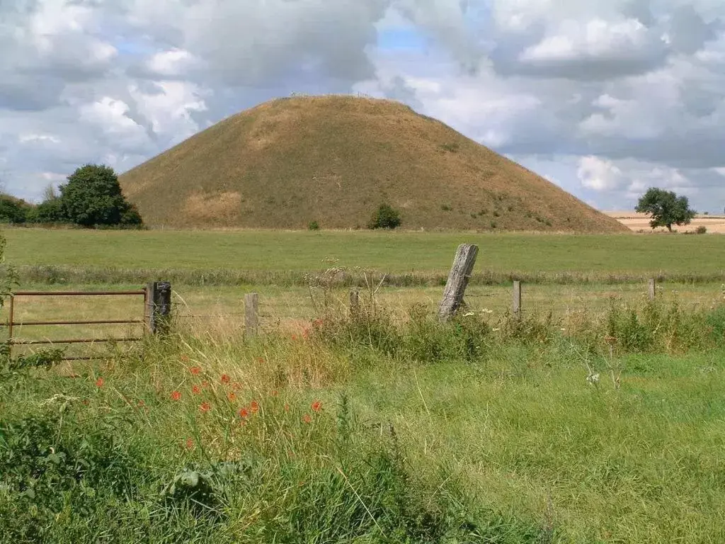
M 136 295 L 144 296 L 144 319 L 100 319 L 88 321 L 15 321 L 15 297 L 94 297 L 94 296 L 113 296 L 113 295 Z M 138 338 L 74 338 L 64 340 L 14 340 L 14 326 L 41 326 L 41 325 L 121 325 L 121 324 L 144 324 L 146 323 L 146 307 L 149 300 L 149 292 L 147 289 L 137 289 L 134 291 L 17 291 L 11 293 L 9 301 L 9 316 L 7 323 L 0 323 L 0 327 L 7 326 L 8 329 L 8 347 L 12 356 L 12 347 L 30 346 L 30 345 L 53 345 L 53 344 L 95 344 L 96 342 L 138 342 L 143 337 Z M 93 357 L 69 357 L 63 360 L 91 360 Z

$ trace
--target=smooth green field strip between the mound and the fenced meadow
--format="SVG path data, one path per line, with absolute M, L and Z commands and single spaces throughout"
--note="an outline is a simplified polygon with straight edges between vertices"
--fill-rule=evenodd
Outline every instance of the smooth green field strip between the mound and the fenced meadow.
M 447 273 L 461 243 L 479 244 L 476 271 L 594 276 L 725 277 L 722 236 L 452 234 L 369 231 L 80 231 L 13 228 L 7 260 L 117 270 L 305 273 L 365 268 Z

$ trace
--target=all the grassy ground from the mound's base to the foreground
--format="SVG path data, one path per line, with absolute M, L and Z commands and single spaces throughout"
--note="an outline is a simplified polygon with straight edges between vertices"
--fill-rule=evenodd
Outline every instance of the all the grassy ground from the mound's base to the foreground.
M 172 277 L 178 319 L 170 338 L 96 347 L 99 360 L 36 368 L 46 359 L 16 347 L 0 364 L 1 544 L 725 542 L 720 236 L 6 234 L 21 289 Z M 462 242 L 479 244 L 479 275 L 500 276 L 438 323 Z M 363 289 L 352 318 L 348 286 L 305 276 L 328 267 L 422 280 L 380 287 L 374 305 Z M 507 313 L 514 272 L 532 280 L 521 320 Z M 252 290 L 263 334 L 245 339 Z M 17 321 L 143 311 L 113 297 L 15 309 Z

